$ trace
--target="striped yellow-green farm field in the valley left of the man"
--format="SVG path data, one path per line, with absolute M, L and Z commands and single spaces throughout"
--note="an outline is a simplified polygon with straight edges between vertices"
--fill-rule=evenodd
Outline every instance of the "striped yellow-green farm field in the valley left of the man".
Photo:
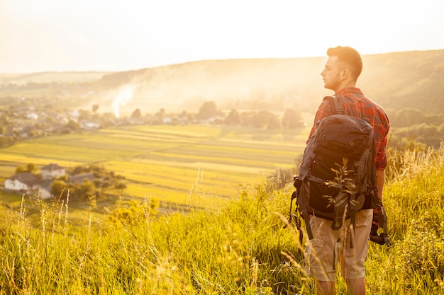
M 217 206 L 277 168 L 294 168 L 308 129 L 213 125 L 131 126 L 24 141 L 0 149 L 0 181 L 17 166 L 96 163 L 126 178 L 121 197 Z

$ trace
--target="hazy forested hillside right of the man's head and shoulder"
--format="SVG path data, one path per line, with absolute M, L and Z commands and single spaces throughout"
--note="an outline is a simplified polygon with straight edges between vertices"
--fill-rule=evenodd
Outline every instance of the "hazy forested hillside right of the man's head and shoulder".
M 360 85 L 385 108 L 444 112 L 444 50 L 364 57 Z

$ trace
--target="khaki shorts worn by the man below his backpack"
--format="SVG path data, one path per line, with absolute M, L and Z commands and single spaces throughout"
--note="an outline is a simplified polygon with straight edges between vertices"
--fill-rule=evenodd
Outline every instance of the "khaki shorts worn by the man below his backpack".
M 333 231 L 332 221 L 311 216 L 310 226 L 314 238 L 306 245 L 306 272 L 318 281 L 333 282 L 340 262 L 340 273 L 345 279 L 364 277 L 372 219 L 372 209 L 357 212 L 351 249 L 350 219 L 345 220 L 338 231 Z

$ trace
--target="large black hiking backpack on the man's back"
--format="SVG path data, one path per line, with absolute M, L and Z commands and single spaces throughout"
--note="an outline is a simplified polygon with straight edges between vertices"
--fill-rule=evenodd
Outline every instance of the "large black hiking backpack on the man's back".
M 377 197 L 372 125 L 344 115 L 343 97 L 328 96 L 324 100 L 335 115 L 316 122 L 318 126 L 307 142 L 294 182 L 299 212 L 310 239 L 309 214 L 332 220 L 334 230 L 350 218 L 354 230 L 355 214 L 364 204 L 379 211 L 382 206 Z

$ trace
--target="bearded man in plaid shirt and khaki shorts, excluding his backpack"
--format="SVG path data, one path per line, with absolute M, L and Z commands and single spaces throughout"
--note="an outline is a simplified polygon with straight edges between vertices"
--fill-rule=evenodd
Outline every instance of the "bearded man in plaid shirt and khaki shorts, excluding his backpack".
M 344 99 L 345 115 L 365 118 L 374 129 L 374 141 L 377 151 L 377 190 L 382 200 L 384 188 L 384 169 L 387 166 L 387 134 L 389 119 L 379 105 L 364 96 L 355 84 L 362 71 L 362 58 L 351 47 L 334 47 L 327 51 L 328 59 L 321 72 L 324 87 L 335 93 L 335 99 L 340 96 Z M 316 122 L 333 115 L 328 100 L 324 100 L 316 112 Z M 306 247 L 307 271 L 316 279 L 317 294 L 335 294 L 336 259 L 340 257 L 340 274 L 344 277 L 349 294 L 365 295 L 365 260 L 368 251 L 368 238 L 372 227 L 373 211 L 370 200 L 366 200 L 365 207 L 357 212 L 355 233 L 353 234 L 354 247 L 350 248 L 350 219 L 345 220 L 338 231 L 331 229 L 331 222 L 318 216 L 310 216 L 310 225 L 313 230 L 313 241 Z M 338 239 L 339 238 L 339 239 Z M 339 254 L 339 255 L 338 255 Z

